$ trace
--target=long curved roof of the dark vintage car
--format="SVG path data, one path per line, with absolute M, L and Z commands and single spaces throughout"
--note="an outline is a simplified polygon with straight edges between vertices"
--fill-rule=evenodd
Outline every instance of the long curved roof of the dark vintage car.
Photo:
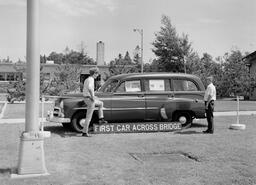
M 131 78 L 154 78 L 154 77 L 187 77 L 198 79 L 197 76 L 185 73 L 167 73 L 167 72 L 147 72 L 147 73 L 127 73 L 112 76 L 111 79 L 131 79 Z

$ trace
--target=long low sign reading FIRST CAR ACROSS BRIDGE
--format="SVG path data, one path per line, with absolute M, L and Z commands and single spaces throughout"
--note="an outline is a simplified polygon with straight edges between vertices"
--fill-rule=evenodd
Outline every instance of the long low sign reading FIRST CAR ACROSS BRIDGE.
M 108 123 L 93 125 L 94 134 L 172 132 L 181 129 L 180 122 Z

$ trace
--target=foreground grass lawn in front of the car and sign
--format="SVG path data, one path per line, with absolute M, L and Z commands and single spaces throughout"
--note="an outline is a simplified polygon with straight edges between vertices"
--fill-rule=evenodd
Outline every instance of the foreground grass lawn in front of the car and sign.
M 255 185 L 256 116 L 241 116 L 246 130 L 228 129 L 236 117 L 216 117 L 181 132 L 99 134 L 83 138 L 60 125 L 44 140 L 49 176 L 10 179 L 17 168 L 23 124 L 0 129 L 1 185 Z

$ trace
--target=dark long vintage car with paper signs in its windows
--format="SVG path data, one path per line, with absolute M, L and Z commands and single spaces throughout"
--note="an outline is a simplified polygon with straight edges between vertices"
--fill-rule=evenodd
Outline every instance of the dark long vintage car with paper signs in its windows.
M 205 118 L 205 88 L 194 75 L 179 73 L 130 73 L 110 77 L 95 93 L 104 102 L 109 123 L 179 121 L 183 126 L 194 118 Z M 48 121 L 81 132 L 86 116 L 82 93 L 55 101 Z M 97 123 L 97 108 L 92 121 Z

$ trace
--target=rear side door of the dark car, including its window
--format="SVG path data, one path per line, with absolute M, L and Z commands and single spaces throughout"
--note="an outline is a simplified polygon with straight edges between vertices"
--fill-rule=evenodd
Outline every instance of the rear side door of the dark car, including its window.
M 173 92 L 169 78 L 145 79 L 146 119 L 160 120 L 160 109 L 173 103 Z

